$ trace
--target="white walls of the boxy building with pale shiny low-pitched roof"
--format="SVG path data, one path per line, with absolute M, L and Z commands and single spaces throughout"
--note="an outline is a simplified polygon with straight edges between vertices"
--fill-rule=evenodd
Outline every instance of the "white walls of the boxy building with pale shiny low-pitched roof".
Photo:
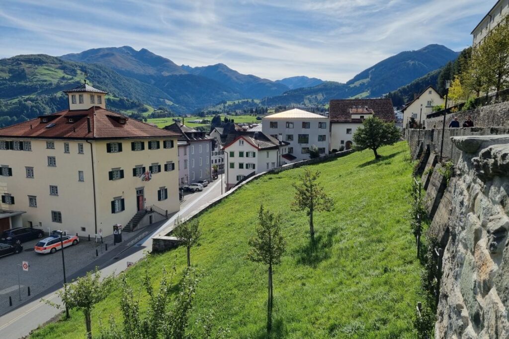
M 271 128 L 270 122 L 277 122 L 277 128 Z M 287 128 L 286 123 L 293 122 L 293 128 Z M 302 122 L 309 122 L 309 129 L 302 128 Z M 326 126 L 324 129 L 318 128 L 318 122 L 325 122 Z M 309 159 L 309 154 L 302 154 L 302 147 L 311 147 L 315 145 L 320 148 L 325 148 L 325 154 L 329 153 L 329 119 L 324 118 L 313 118 L 313 119 L 290 119 L 290 118 L 269 118 L 265 117 L 262 119 L 262 131 L 268 135 L 281 135 L 282 141 L 290 143 L 287 147 L 293 147 L 293 153 L 297 159 L 295 161 Z M 300 144 L 299 134 L 308 134 L 308 143 Z M 287 135 L 293 135 L 293 141 L 287 140 Z M 319 135 L 325 135 L 325 141 L 318 141 Z

